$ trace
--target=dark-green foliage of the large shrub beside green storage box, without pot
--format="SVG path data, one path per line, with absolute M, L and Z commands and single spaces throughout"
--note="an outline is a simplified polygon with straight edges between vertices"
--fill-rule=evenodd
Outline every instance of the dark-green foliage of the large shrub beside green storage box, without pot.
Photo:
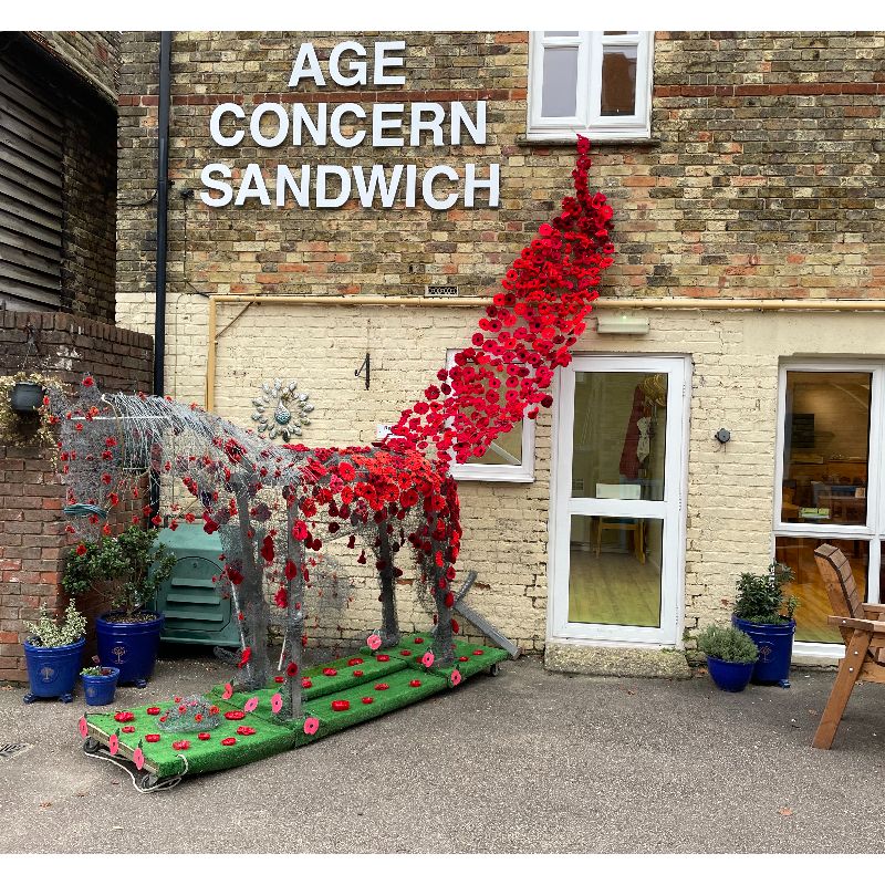
M 102 593 L 123 621 L 140 621 L 138 610 L 171 574 L 175 554 L 157 543 L 159 529 L 129 525 L 117 535 L 80 544 L 67 555 L 62 587 L 71 596 Z

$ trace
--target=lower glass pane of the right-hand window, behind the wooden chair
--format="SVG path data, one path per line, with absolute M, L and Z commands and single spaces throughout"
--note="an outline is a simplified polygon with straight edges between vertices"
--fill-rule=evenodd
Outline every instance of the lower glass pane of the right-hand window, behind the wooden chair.
M 821 573 L 814 561 L 814 551 L 821 544 L 837 546 L 851 563 L 857 592 L 866 598 L 866 573 L 870 564 L 870 544 L 867 541 L 846 541 L 843 539 L 823 538 L 778 538 L 774 544 L 774 558 L 789 565 L 795 572 L 795 581 L 788 584 L 787 593 L 799 596 L 799 608 L 795 612 L 795 638 L 803 643 L 841 643 L 842 634 L 826 623 L 833 614 L 830 597 L 826 595 Z

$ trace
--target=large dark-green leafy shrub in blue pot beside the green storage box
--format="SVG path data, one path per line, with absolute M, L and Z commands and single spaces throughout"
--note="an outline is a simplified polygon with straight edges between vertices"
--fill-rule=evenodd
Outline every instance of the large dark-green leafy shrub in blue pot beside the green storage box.
M 175 555 L 157 543 L 159 529 L 129 525 L 117 535 L 81 543 L 69 554 L 62 586 L 72 596 L 93 587 L 111 611 L 95 621 L 98 658 L 119 669 L 121 684 L 144 688 L 154 673 L 163 614 L 145 610 L 171 574 Z

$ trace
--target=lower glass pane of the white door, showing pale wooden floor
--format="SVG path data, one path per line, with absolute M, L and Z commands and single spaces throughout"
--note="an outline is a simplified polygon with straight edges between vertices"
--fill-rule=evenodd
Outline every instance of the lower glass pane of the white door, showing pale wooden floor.
M 569 621 L 660 626 L 659 519 L 572 517 Z

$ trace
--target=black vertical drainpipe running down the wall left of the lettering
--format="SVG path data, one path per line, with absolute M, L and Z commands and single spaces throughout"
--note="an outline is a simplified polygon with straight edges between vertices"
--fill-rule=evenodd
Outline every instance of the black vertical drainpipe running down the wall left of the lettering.
M 159 37 L 159 117 L 157 121 L 157 259 L 154 308 L 154 395 L 163 396 L 166 366 L 166 244 L 169 209 L 169 56 L 171 31 Z M 159 476 L 150 470 L 150 516 L 159 511 Z

